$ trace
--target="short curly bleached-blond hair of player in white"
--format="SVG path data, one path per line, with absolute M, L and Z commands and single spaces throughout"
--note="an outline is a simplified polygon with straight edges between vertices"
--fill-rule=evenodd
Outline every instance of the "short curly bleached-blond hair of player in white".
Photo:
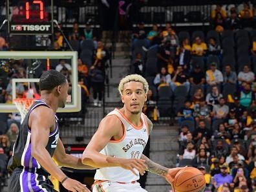
M 145 80 L 144 77 L 142 77 L 142 76 L 140 76 L 138 74 L 131 74 L 131 75 L 125 76 L 120 81 L 120 83 L 118 85 L 118 91 L 120 92 L 120 95 L 123 94 L 123 86 L 124 86 L 124 84 L 125 83 L 129 83 L 131 81 L 136 81 L 136 82 L 142 83 L 144 85 L 145 93 L 147 93 L 147 91 L 149 91 L 149 84 L 147 83 L 147 80 Z

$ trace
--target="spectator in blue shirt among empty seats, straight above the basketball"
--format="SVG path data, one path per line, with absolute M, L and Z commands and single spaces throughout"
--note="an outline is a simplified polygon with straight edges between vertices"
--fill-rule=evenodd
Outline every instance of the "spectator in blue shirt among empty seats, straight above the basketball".
M 194 118 L 193 118 L 194 109 L 191 109 L 191 105 L 192 105 L 191 101 L 187 100 L 185 102 L 184 107 L 182 107 L 180 111 L 178 111 L 177 116 L 179 117 L 178 119 L 179 124 L 181 124 L 181 122 L 185 120 L 194 122 Z

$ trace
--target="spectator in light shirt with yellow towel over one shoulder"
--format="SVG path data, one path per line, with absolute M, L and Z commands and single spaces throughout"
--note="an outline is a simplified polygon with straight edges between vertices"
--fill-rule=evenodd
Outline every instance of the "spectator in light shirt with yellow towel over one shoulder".
M 217 69 L 217 63 L 211 63 L 211 67 L 206 71 L 206 82 L 208 86 L 220 86 L 223 82 L 222 72 Z

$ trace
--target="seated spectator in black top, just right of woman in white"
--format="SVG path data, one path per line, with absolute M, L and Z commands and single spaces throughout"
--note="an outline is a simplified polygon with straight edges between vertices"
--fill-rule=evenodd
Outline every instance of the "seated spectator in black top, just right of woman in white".
M 190 84 L 188 81 L 188 76 L 184 72 L 183 67 L 181 65 L 178 65 L 175 72 L 175 76 L 173 76 L 173 79 L 171 80 L 171 83 L 170 83 L 171 90 L 174 92 L 175 88 L 180 85 L 186 86 L 187 92 L 189 92 Z

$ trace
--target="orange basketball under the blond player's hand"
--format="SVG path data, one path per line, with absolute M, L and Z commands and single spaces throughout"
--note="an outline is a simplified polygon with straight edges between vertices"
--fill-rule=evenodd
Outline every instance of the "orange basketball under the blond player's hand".
M 204 191 L 206 180 L 204 174 L 195 167 L 186 167 L 178 171 L 173 183 L 176 192 L 198 192 Z

